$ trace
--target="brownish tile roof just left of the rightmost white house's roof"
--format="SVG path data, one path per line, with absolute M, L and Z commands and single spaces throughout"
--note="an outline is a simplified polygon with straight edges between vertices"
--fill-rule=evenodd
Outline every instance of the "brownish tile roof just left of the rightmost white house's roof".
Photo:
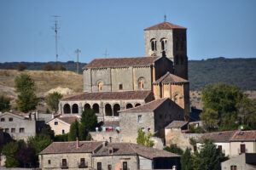
M 230 139 L 235 133 L 236 131 L 204 133 L 198 141 L 203 142 L 204 139 L 212 139 L 214 142 L 230 142 Z

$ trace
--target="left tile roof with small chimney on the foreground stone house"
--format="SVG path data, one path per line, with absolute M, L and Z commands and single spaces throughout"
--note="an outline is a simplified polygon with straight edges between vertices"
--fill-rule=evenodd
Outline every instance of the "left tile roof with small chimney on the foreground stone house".
M 76 141 L 54 142 L 39 154 L 89 153 L 99 148 L 102 143 L 101 141 L 79 141 L 79 148 L 77 148 Z

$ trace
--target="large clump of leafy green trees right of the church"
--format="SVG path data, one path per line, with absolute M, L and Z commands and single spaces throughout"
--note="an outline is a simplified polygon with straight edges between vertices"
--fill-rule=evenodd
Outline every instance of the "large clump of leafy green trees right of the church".
M 218 83 L 202 90 L 201 120 L 211 131 L 236 130 L 242 124 L 256 128 L 255 101 L 248 99 L 234 85 Z

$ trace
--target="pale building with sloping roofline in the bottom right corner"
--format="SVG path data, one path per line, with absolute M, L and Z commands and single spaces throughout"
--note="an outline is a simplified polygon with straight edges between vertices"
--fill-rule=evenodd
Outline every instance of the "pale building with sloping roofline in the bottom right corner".
M 230 160 L 221 162 L 222 170 L 255 170 L 256 153 L 243 153 L 239 156 L 231 157 Z

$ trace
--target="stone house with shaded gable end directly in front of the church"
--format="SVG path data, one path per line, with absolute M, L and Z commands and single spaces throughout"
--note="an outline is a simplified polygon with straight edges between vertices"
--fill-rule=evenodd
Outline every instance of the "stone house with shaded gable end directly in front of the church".
M 137 130 L 164 139 L 164 128 L 173 120 L 183 120 L 184 111 L 172 99 L 156 99 L 145 105 L 119 111 L 120 141 L 136 143 Z

